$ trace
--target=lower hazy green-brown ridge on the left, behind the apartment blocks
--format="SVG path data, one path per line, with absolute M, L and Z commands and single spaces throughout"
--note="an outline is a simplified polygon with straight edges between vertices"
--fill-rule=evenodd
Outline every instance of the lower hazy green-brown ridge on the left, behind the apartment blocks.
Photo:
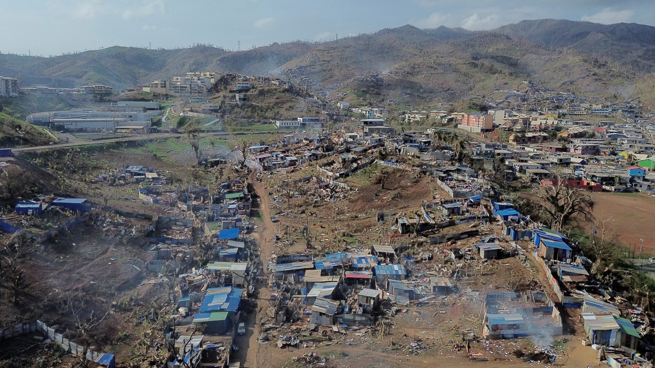
M 124 89 L 155 79 L 170 79 L 187 71 L 271 73 L 310 48 L 310 43 L 273 44 L 240 52 L 208 46 L 175 50 L 113 46 L 52 58 L 0 54 L 0 75 L 20 76 L 21 84 L 27 86 L 73 87 L 98 83 Z

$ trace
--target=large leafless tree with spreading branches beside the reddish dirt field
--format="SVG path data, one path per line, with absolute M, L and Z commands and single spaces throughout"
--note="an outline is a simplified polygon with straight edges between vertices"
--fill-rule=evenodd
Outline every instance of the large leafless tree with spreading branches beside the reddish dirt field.
M 587 191 L 569 187 L 561 174 L 555 174 L 556 183 L 540 186 L 537 189 L 538 202 L 546 212 L 548 227 L 556 231 L 567 229 L 573 217 L 586 221 L 593 219 L 593 199 Z

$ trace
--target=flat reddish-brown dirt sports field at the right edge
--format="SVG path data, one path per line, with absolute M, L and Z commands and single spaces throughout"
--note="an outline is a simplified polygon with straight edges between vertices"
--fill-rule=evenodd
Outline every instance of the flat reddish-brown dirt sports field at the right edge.
M 655 198 L 641 193 L 593 193 L 595 221 L 607 222 L 610 233 L 630 246 L 644 240 L 644 253 L 655 253 Z M 591 225 L 597 227 L 597 225 Z

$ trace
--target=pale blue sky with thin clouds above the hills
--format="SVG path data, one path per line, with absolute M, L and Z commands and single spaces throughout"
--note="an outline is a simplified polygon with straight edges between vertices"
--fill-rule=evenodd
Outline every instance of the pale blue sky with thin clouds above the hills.
M 411 24 L 472 30 L 524 19 L 655 26 L 652 0 L 0 0 L 0 52 L 331 41 Z

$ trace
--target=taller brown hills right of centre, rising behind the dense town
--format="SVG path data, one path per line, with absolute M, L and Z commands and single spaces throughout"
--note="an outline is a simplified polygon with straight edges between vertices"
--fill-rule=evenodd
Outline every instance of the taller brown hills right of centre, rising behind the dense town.
M 613 98 L 614 90 L 633 78 L 628 71 L 580 52 L 550 50 L 502 33 L 463 36 L 466 31 L 458 31 L 445 39 L 432 37 L 431 32 L 403 26 L 352 37 L 348 43 L 314 48 L 282 68 L 346 92 L 346 101 L 395 100 L 407 105 L 514 89 L 525 79 Z M 411 97 L 401 96 L 402 90 Z

